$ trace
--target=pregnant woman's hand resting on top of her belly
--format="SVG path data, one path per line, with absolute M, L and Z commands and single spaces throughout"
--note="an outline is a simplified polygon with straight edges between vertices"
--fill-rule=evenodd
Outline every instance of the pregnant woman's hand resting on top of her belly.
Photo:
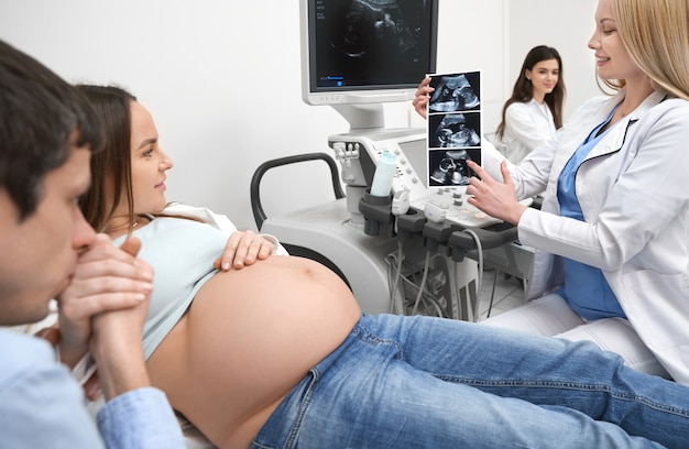
M 222 271 L 232 267 L 236 270 L 243 269 L 256 261 L 267 259 L 273 254 L 274 249 L 270 240 L 253 231 L 236 231 L 228 239 L 222 255 L 216 259 L 212 266 Z

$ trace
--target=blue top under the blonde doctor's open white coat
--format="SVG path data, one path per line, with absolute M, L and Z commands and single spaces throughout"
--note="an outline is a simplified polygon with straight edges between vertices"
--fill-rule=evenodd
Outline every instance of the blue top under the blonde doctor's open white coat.
M 608 119 L 591 131 L 560 173 L 557 185 L 557 199 L 560 204 L 560 215 L 562 217 L 583 221 L 583 212 L 577 198 L 575 177 L 587 155 L 610 131 L 608 129 L 605 132 L 598 134 L 599 130 L 610 121 L 614 112 L 613 109 Z M 620 302 L 612 288 L 610 288 L 600 269 L 567 258 L 562 258 L 562 265 L 565 283 L 556 293 L 565 298 L 572 310 L 588 320 L 625 317 Z

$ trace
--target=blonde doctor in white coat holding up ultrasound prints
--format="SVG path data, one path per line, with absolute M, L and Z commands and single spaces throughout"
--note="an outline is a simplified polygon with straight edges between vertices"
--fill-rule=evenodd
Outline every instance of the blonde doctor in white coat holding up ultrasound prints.
M 689 384 L 689 4 L 600 0 L 589 42 L 617 90 L 518 166 L 486 151 L 469 201 L 537 249 L 528 295 L 486 320 L 592 339 Z M 542 210 L 517 202 L 545 189 Z M 659 362 L 659 363 L 658 363 Z

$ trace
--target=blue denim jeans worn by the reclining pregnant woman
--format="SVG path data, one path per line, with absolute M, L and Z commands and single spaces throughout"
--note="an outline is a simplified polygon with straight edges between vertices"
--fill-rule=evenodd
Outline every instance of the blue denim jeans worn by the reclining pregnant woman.
M 361 318 L 252 448 L 679 448 L 688 435 L 688 387 L 594 343 L 380 315 Z

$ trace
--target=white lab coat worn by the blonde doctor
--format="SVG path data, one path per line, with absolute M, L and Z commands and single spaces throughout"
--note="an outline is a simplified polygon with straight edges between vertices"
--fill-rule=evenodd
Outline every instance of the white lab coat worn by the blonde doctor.
M 602 269 L 634 330 L 680 383 L 689 384 L 689 101 L 650 95 L 581 164 L 576 191 L 586 221 L 559 216 L 557 180 L 571 154 L 619 103 L 589 100 L 558 131 L 511 167 L 517 196 L 543 191 L 520 241 L 537 248 L 531 298 L 562 283 L 559 256 Z M 484 167 L 501 178 L 499 154 Z

